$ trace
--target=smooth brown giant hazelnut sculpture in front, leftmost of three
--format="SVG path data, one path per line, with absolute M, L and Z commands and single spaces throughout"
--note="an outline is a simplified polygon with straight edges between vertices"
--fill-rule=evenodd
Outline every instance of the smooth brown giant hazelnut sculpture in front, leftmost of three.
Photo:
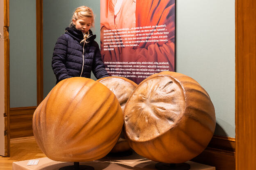
M 104 157 L 117 143 L 122 126 L 123 113 L 114 93 L 82 77 L 60 81 L 33 116 L 39 148 L 55 161 Z

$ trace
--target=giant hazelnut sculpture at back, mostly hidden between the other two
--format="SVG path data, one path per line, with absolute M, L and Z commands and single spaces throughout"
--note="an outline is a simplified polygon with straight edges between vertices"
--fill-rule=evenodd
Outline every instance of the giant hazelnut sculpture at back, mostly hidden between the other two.
M 109 88 L 117 97 L 122 110 L 128 101 L 128 98 L 133 93 L 133 90 L 137 87 L 137 84 L 124 77 L 104 77 L 97 80 L 98 82 Z M 130 149 L 130 145 L 126 141 L 123 131 L 117 144 L 111 150 L 112 153 L 125 152 Z

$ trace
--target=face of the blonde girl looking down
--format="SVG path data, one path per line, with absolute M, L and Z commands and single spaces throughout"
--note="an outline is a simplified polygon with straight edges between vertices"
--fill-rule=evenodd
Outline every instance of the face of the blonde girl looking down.
M 91 28 L 91 17 L 82 17 L 77 20 L 73 19 L 73 24 L 76 29 L 81 30 L 83 33 L 87 33 Z

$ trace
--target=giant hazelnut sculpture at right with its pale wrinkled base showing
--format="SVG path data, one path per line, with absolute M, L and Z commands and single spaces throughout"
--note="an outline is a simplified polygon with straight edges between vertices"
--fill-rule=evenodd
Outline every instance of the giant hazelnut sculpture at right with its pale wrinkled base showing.
M 200 154 L 215 130 L 215 110 L 193 78 L 161 72 L 140 83 L 126 103 L 130 146 L 153 161 L 182 163 Z

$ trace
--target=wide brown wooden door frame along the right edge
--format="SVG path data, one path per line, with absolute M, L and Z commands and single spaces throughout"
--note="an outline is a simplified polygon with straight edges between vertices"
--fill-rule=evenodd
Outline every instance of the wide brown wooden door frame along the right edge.
M 256 3 L 235 1 L 235 166 L 256 169 Z

